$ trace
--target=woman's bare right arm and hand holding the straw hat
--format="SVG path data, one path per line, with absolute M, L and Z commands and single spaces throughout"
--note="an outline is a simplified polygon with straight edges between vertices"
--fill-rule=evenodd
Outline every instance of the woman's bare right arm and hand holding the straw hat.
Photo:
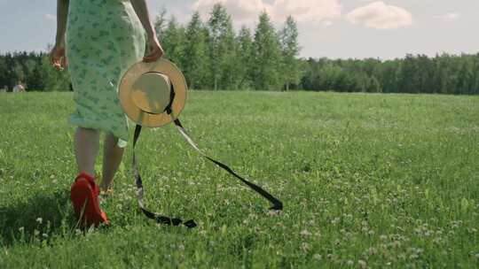
M 154 62 L 163 56 L 164 51 L 161 48 L 161 44 L 158 41 L 158 37 L 154 32 L 152 21 L 150 20 L 150 14 L 145 0 L 130 0 L 133 9 L 137 13 L 138 19 L 145 28 L 146 35 L 148 35 L 148 46 L 150 51 L 143 58 L 145 62 Z

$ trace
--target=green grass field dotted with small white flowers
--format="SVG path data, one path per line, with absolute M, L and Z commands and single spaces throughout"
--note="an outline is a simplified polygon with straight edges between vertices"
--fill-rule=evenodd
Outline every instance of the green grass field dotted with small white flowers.
M 479 97 L 192 92 L 200 147 L 271 191 L 279 214 L 173 126 L 131 148 L 102 200 L 113 226 L 75 229 L 70 93 L 0 95 L 0 268 L 477 268 Z M 101 171 L 98 159 L 98 172 Z

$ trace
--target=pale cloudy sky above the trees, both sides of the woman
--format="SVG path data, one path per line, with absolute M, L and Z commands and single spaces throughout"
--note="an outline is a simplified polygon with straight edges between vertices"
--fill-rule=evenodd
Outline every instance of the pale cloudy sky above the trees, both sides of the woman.
M 70 0 L 75 1 L 75 0 Z M 113 1 L 113 0 L 111 0 Z M 479 52 L 478 0 L 146 0 L 152 19 L 164 6 L 187 22 L 223 3 L 236 29 L 252 30 L 266 11 L 280 28 L 298 21 L 303 58 L 404 58 Z M 0 0 L 0 53 L 46 50 L 56 32 L 56 0 Z M 161 39 L 161 36 L 160 36 Z

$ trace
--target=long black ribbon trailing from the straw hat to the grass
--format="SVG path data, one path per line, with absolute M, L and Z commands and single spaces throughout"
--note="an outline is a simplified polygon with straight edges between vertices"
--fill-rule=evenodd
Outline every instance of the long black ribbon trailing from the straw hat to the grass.
M 164 112 L 166 112 L 171 117 L 171 119 L 173 119 L 173 122 L 175 123 L 177 130 L 180 132 L 181 135 L 183 135 L 186 142 L 188 142 L 194 150 L 200 153 L 202 157 L 207 158 L 209 161 L 218 165 L 219 167 L 224 169 L 226 172 L 232 174 L 232 176 L 234 176 L 235 178 L 245 183 L 247 187 L 255 190 L 255 192 L 258 193 L 260 196 L 263 196 L 266 200 L 270 201 L 272 204 L 270 210 L 274 210 L 274 211 L 283 210 L 283 203 L 281 203 L 281 201 L 279 201 L 274 196 L 271 196 L 271 194 L 268 193 L 266 190 L 255 185 L 255 183 L 247 181 L 245 178 L 241 177 L 238 173 L 235 173 L 232 170 L 232 168 L 230 168 L 228 165 L 224 165 L 223 163 L 217 161 L 216 159 L 208 157 L 202 150 L 200 150 L 196 142 L 194 142 L 192 138 L 190 137 L 190 135 L 188 135 L 188 133 L 185 130 L 185 127 L 183 127 L 180 120 L 173 118 L 171 106 L 173 105 L 174 99 L 175 99 L 175 90 L 173 88 L 173 85 L 171 84 L 170 94 L 169 94 L 169 104 L 165 108 Z M 143 111 L 143 112 L 147 114 L 157 115 L 155 113 L 151 113 L 148 111 Z M 162 216 L 160 213 L 154 213 L 152 211 L 148 211 L 145 208 L 145 205 L 143 204 L 143 193 L 144 193 L 143 181 L 141 180 L 141 175 L 137 168 L 137 158 L 135 156 L 135 146 L 137 144 L 137 140 L 140 134 L 141 134 L 141 126 L 137 124 L 137 127 L 135 127 L 135 135 L 133 137 L 133 170 L 135 174 L 135 184 L 137 185 L 137 200 L 138 200 L 138 205 L 141 211 L 143 211 L 143 213 L 145 214 L 147 218 L 154 219 L 157 223 L 161 223 L 165 225 L 173 225 L 173 226 L 180 226 L 183 224 L 185 227 L 188 227 L 188 228 L 196 227 L 196 223 L 192 219 L 184 222 L 182 219 L 169 218 L 166 216 Z

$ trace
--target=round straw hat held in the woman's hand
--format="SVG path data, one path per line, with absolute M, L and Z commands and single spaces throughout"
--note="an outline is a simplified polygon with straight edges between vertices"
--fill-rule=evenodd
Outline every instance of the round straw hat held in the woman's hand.
M 187 89 L 177 65 L 160 59 L 132 65 L 122 77 L 119 97 L 125 114 L 138 125 L 162 127 L 185 107 Z

